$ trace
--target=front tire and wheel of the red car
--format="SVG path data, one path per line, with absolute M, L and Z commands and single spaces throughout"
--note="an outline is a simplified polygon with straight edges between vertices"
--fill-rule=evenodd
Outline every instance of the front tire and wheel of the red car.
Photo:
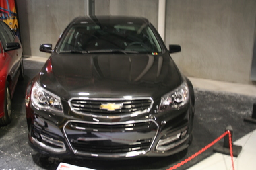
M 5 115 L 0 118 L 0 125 L 7 125 L 11 122 L 12 113 L 11 113 L 11 91 L 9 89 L 9 83 L 6 82 L 5 85 L 5 103 L 4 103 L 4 112 Z

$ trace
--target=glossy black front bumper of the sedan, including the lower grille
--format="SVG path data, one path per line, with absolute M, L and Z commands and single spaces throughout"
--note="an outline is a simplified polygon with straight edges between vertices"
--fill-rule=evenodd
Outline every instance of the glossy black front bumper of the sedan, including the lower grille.
M 93 118 L 52 114 L 32 106 L 29 110 L 30 118 L 33 117 L 28 119 L 30 145 L 57 157 L 168 156 L 187 148 L 191 136 L 189 107 L 173 113 L 147 113 L 98 122 Z

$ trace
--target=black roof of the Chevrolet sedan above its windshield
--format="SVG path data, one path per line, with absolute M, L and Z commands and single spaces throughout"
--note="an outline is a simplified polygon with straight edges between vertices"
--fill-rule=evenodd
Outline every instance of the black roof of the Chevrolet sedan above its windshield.
M 76 17 L 73 19 L 73 24 L 79 23 L 94 23 L 94 24 L 149 24 L 148 19 L 143 17 L 123 17 L 123 16 L 93 16 L 93 17 Z

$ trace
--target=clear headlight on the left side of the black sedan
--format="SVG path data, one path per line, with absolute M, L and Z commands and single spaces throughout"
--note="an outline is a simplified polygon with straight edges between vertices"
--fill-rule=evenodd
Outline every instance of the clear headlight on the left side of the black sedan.
M 63 112 L 61 98 L 43 89 L 37 82 L 32 87 L 31 101 L 37 109 Z

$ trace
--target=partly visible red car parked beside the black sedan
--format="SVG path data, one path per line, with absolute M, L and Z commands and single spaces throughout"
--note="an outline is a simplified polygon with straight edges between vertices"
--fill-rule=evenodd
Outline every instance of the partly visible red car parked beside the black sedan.
M 20 40 L 0 21 L 0 125 L 11 122 L 11 98 L 19 77 L 23 79 Z

